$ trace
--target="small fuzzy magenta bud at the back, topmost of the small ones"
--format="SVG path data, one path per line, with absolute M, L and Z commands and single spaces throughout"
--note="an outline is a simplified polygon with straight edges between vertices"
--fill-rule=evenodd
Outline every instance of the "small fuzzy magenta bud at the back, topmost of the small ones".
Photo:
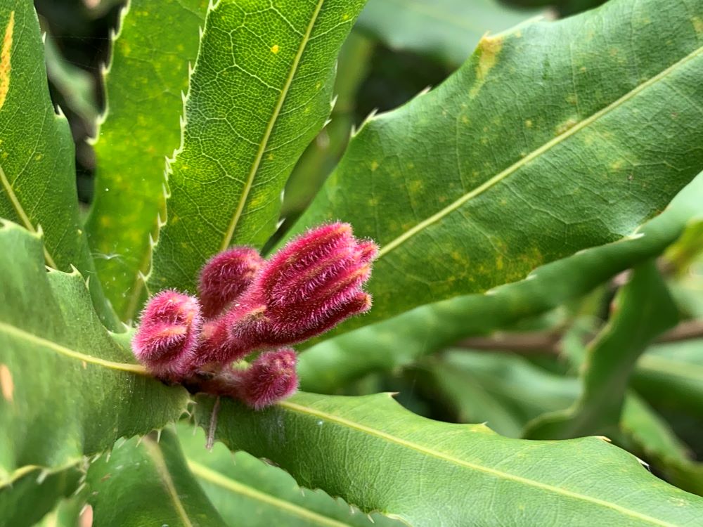
M 205 318 L 214 318 L 249 287 L 264 259 L 252 247 L 232 247 L 216 254 L 200 271 L 198 296 Z

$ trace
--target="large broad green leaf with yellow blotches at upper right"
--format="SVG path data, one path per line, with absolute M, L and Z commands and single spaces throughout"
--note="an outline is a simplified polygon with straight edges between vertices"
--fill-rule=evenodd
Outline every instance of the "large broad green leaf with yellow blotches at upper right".
M 374 308 L 342 330 L 520 280 L 661 212 L 703 166 L 697 15 L 703 0 L 616 0 L 522 25 L 369 119 L 293 229 L 342 219 L 380 244 Z

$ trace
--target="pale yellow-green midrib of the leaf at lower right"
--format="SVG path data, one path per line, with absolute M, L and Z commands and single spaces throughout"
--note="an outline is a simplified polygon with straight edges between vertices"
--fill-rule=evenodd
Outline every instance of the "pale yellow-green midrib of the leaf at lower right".
M 441 461 L 458 464 L 460 467 L 465 467 L 470 470 L 483 472 L 484 474 L 490 474 L 491 476 L 495 476 L 496 478 L 500 478 L 500 479 L 503 479 L 506 481 L 513 481 L 515 483 L 520 483 L 522 485 L 538 488 L 540 490 L 546 490 L 549 493 L 560 494 L 565 497 L 571 497 L 571 498 L 574 498 L 575 500 L 582 500 L 585 502 L 591 502 L 594 505 L 600 505 L 602 507 L 607 507 L 608 509 L 613 509 L 617 512 L 625 514 L 626 516 L 631 516 L 632 518 L 635 518 L 635 519 L 638 519 L 641 521 L 647 521 L 649 523 L 652 523 L 652 525 L 657 525 L 657 526 L 662 526 L 662 527 L 677 527 L 673 523 L 661 521 L 657 518 L 653 518 L 652 516 L 647 516 L 646 514 L 642 514 L 640 512 L 633 511 L 631 509 L 626 509 L 625 507 L 621 507 L 621 505 L 617 505 L 615 503 L 610 503 L 605 500 L 600 500 L 600 498 L 598 498 L 598 497 L 579 494 L 579 493 L 573 492 L 572 490 L 567 490 L 565 488 L 559 488 L 559 487 L 555 487 L 553 485 L 549 485 L 548 483 L 541 483 L 540 481 L 534 481 L 533 479 L 524 478 L 522 476 L 516 476 L 515 474 L 509 474 L 508 472 L 503 472 L 498 469 L 492 469 L 491 467 L 484 467 L 483 465 L 480 465 L 480 464 L 468 462 L 468 461 L 462 460 L 458 457 L 454 457 L 453 455 L 439 452 L 437 450 L 433 450 L 432 448 L 428 448 L 423 445 L 418 445 L 418 443 L 413 443 L 412 441 L 407 441 L 406 439 L 393 436 L 392 434 L 388 434 L 387 432 L 384 432 L 384 431 L 381 431 L 381 430 L 378 430 L 375 428 L 367 427 L 364 424 L 349 421 L 349 419 L 344 419 L 344 417 L 338 417 L 336 415 L 331 415 L 331 414 L 328 414 L 327 412 L 315 410 L 314 408 L 309 408 L 304 405 L 291 403 L 290 401 L 283 401 L 281 403 L 278 403 L 278 405 L 283 408 L 288 408 L 289 410 L 293 410 L 295 412 L 301 412 L 301 413 L 304 413 L 307 415 L 314 415 L 315 417 L 318 417 L 321 419 L 327 419 L 330 422 L 340 424 L 344 427 L 349 427 L 349 428 L 364 432 L 366 434 L 370 434 L 372 436 L 377 436 L 377 437 L 385 439 L 386 441 L 389 441 L 391 443 L 396 443 L 396 445 L 400 445 L 405 448 L 410 448 L 412 450 L 416 450 L 424 455 L 436 457 L 437 459 L 439 459 Z

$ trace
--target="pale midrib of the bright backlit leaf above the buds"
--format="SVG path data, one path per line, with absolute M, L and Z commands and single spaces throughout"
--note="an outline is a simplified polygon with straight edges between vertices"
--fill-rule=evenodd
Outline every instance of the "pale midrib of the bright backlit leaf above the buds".
M 237 223 L 239 223 L 239 219 L 242 216 L 242 213 L 244 212 L 244 206 L 247 202 L 247 198 L 249 197 L 249 193 L 252 190 L 252 185 L 254 184 L 254 178 L 257 175 L 257 171 L 259 171 L 259 166 L 261 165 L 262 159 L 264 158 L 264 152 L 266 152 L 266 147 L 269 145 L 269 139 L 271 138 L 271 134 L 273 133 L 273 126 L 276 124 L 276 119 L 278 119 L 278 115 L 280 114 L 280 110 L 283 108 L 283 103 L 285 103 L 285 98 L 288 96 L 288 90 L 290 90 L 290 85 L 293 82 L 293 78 L 295 77 L 295 74 L 298 70 L 298 65 L 300 63 L 300 60 L 303 56 L 303 53 L 305 51 L 305 48 L 310 40 L 310 36 L 312 34 L 313 27 L 315 26 L 315 22 L 318 18 L 318 15 L 320 14 L 320 10 L 322 9 L 322 5 L 325 3 L 325 0 L 318 0 L 317 6 L 315 7 L 315 11 L 312 14 L 312 17 L 310 18 L 310 23 L 308 24 L 307 30 L 305 30 L 305 34 L 303 35 L 302 41 L 300 42 L 300 46 L 298 48 L 298 51 L 295 55 L 295 59 L 293 59 L 293 63 L 290 66 L 290 72 L 288 72 L 288 78 L 285 79 L 285 84 L 283 85 L 283 89 L 280 91 L 280 95 L 278 96 L 278 101 L 276 102 L 276 108 L 273 109 L 273 114 L 271 114 L 271 119 L 269 119 L 269 123 L 266 125 L 266 131 L 264 131 L 264 137 L 262 138 L 262 141 L 259 143 L 259 150 L 257 150 L 257 157 L 254 159 L 254 163 L 252 164 L 252 168 L 249 171 L 249 175 L 247 176 L 247 183 L 244 187 L 242 197 L 239 200 L 239 204 L 237 205 L 237 209 L 234 212 L 234 215 L 232 216 L 232 221 L 229 224 L 229 227 L 227 229 L 227 233 L 222 240 L 222 245 L 220 246 L 220 250 L 224 251 L 227 247 L 229 247 L 229 244 L 232 242 L 232 237 L 234 235 L 234 230 L 237 228 Z

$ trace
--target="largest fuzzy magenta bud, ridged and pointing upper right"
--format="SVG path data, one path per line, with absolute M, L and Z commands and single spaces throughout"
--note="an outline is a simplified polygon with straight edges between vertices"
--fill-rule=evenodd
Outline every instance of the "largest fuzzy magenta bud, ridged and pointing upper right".
M 224 318 L 240 347 L 285 346 L 368 311 L 361 289 L 378 247 L 356 240 L 348 223 L 324 225 L 274 254 Z

